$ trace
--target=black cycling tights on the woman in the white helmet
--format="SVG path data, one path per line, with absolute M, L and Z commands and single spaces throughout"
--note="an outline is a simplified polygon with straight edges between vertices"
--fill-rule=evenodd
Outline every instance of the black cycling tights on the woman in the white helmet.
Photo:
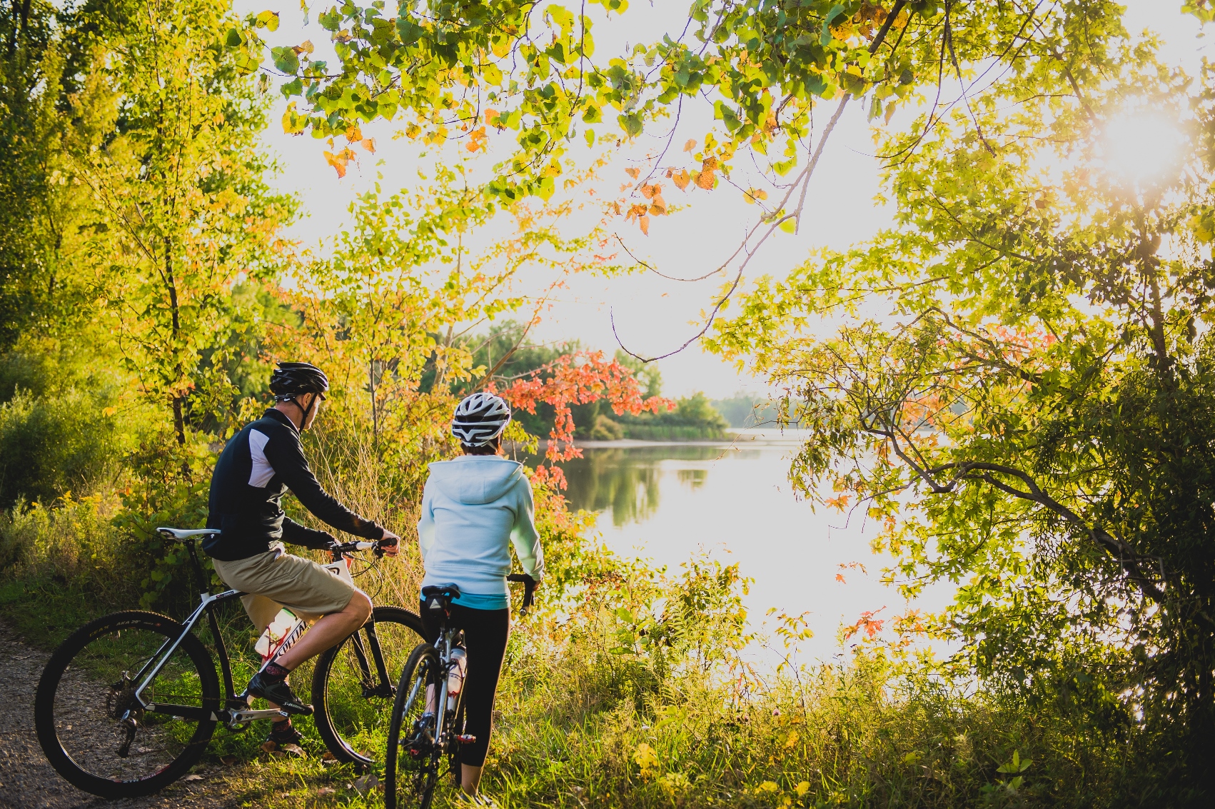
M 420 612 L 426 638 L 437 638 L 439 620 L 428 615 L 430 610 Z M 459 762 L 481 766 L 485 764 L 485 753 L 490 749 L 493 695 L 498 690 L 502 658 L 505 657 L 507 638 L 510 637 L 510 610 L 474 610 L 453 604 L 450 626 L 464 630 L 464 647 L 468 650 L 464 732 L 476 736 L 475 743 L 460 745 Z

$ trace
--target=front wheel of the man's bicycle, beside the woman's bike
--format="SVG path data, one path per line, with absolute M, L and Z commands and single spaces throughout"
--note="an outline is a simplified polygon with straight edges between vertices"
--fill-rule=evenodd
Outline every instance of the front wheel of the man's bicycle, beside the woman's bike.
M 312 669 L 313 722 L 338 760 L 363 765 L 379 760 L 396 683 L 420 638 L 422 618 L 417 615 L 378 606 L 358 633 L 317 658 Z

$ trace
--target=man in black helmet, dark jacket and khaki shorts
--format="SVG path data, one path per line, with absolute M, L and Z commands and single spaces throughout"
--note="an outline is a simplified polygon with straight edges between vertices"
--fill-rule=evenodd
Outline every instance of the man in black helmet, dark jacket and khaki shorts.
M 287 713 L 311 714 L 287 681 L 292 669 L 357 632 L 372 613 L 372 601 L 350 583 L 321 565 L 286 553 L 283 542 L 327 549 L 333 534 L 307 528 L 286 514 L 279 500 L 290 490 L 323 522 L 366 539 L 379 539 L 395 556 L 399 537 L 363 519 L 330 497 L 309 469 L 300 447 L 300 431 L 312 426 L 329 380 L 306 362 L 279 362 L 270 379 L 277 405 L 237 432 L 224 447 L 211 475 L 208 537 L 203 549 L 227 587 L 243 590 L 241 599 L 258 632 L 282 607 L 316 623 L 287 652 L 258 672 L 245 694 L 264 697 Z M 299 731 L 290 719 L 273 725 L 270 741 L 295 743 Z

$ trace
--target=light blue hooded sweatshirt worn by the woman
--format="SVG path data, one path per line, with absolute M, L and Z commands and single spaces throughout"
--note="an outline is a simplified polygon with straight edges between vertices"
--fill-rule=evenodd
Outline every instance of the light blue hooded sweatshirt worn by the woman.
M 422 585 L 453 582 L 457 604 L 507 606 L 510 544 L 524 571 L 544 576 L 544 551 L 533 521 L 531 483 L 522 464 L 499 456 L 462 456 L 430 464 L 422 494 L 418 547 Z

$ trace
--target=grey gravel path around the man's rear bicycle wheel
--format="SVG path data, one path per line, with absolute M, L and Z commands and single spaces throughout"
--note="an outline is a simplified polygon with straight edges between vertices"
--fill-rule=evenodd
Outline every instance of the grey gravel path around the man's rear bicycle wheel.
M 241 805 L 227 785 L 227 777 L 238 768 L 199 771 L 199 780 L 179 782 L 160 794 L 134 800 L 102 800 L 61 779 L 46 763 L 34 735 L 34 691 L 49 655 L 13 638 L 15 634 L 0 623 L 0 675 L 5 690 L 0 707 L 0 807 L 220 809 Z

